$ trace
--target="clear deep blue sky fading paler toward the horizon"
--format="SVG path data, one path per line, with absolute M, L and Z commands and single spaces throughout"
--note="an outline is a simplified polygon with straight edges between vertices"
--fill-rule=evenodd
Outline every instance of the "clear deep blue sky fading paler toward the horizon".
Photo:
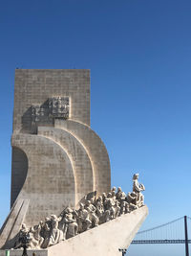
M 91 69 L 91 126 L 109 151 L 112 185 L 131 191 L 139 173 L 150 211 L 142 229 L 191 216 L 191 1 L 1 1 L 0 224 L 16 67 Z M 129 255 L 184 255 L 181 245 L 134 246 Z

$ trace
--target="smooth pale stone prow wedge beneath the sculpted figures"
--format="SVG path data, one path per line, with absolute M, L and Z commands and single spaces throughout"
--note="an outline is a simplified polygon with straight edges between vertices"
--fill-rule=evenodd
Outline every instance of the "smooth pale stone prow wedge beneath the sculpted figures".
M 49 256 L 118 256 L 127 248 L 148 214 L 146 206 L 48 248 Z

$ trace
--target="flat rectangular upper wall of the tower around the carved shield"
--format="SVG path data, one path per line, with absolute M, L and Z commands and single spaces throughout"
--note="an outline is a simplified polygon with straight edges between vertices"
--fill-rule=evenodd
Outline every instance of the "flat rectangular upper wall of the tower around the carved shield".
M 70 119 L 90 126 L 90 71 L 85 69 L 16 69 L 13 130 L 32 131 L 32 105 L 52 97 L 70 98 Z

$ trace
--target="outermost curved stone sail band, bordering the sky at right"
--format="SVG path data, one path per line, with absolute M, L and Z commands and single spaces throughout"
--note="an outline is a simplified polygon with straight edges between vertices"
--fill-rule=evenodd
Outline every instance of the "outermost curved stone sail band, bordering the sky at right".
M 97 195 L 105 193 L 111 189 L 110 159 L 108 152 L 94 130 L 88 126 L 83 126 L 79 122 L 67 120 L 66 122 L 60 119 L 55 120 L 55 128 L 61 128 L 74 134 L 74 136 L 81 142 L 91 159 L 95 182 L 94 186 Z

